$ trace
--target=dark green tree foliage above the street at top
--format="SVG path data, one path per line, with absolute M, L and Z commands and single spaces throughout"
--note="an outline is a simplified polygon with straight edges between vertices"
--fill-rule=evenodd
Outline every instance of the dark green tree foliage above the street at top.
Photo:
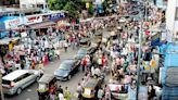
M 68 11 L 69 17 L 79 17 L 86 0 L 48 0 L 48 4 L 50 10 L 65 10 Z

